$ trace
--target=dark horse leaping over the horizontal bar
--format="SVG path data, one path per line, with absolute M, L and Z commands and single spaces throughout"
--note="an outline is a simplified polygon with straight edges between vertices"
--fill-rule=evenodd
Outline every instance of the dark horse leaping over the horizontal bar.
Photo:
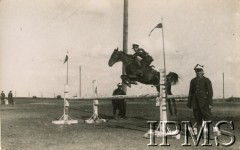
M 121 79 L 124 84 L 126 84 L 128 87 L 131 87 L 131 84 L 137 84 L 137 82 L 140 82 L 142 84 L 146 85 L 153 85 L 156 87 L 156 90 L 160 92 L 160 73 L 153 69 L 152 66 L 148 66 L 143 69 L 143 74 L 139 74 L 139 62 L 140 60 L 137 57 L 134 57 L 133 55 L 126 54 L 123 51 L 119 51 L 118 48 L 114 49 L 109 61 L 108 65 L 112 67 L 115 63 L 122 62 L 125 65 L 126 75 L 121 75 Z M 171 92 L 171 86 L 178 83 L 179 76 L 175 72 L 169 72 L 166 75 L 166 92 L 168 95 L 172 95 Z M 176 105 L 174 99 L 168 99 L 170 114 L 172 115 L 171 110 L 171 101 L 174 104 L 174 110 L 176 114 Z

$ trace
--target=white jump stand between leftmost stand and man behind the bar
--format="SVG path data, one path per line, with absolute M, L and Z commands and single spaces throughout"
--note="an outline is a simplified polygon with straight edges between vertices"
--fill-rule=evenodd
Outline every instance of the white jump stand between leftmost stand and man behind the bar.
M 93 84 L 93 97 L 97 97 L 97 81 L 93 80 L 92 82 Z M 99 115 L 98 115 L 98 100 L 93 100 L 93 115 L 88 119 L 85 120 L 86 123 L 102 123 L 102 122 L 106 122 L 106 119 L 102 119 Z

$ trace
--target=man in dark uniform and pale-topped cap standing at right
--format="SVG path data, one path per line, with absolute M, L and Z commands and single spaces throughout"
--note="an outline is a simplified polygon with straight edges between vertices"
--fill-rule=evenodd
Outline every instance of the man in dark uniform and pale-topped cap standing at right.
M 196 77 L 190 82 L 187 106 L 188 108 L 193 108 L 193 115 L 199 130 L 203 120 L 211 120 L 213 89 L 211 81 L 204 77 L 203 66 L 197 64 L 194 70 Z

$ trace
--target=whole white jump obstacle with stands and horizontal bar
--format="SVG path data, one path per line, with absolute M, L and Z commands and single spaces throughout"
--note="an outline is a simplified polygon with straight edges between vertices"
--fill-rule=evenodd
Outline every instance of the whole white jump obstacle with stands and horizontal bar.
M 64 89 L 64 107 L 63 107 L 63 115 L 62 117 L 57 121 L 52 121 L 53 124 L 73 124 L 78 123 L 77 120 L 73 120 L 68 115 L 68 107 L 69 102 L 68 100 L 93 100 L 93 115 L 85 120 L 86 123 L 101 123 L 106 122 L 106 119 L 102 119 L 98 114 L 98 100 L 112 100 L 112 99 L 152 99 L 156 98 L 156 106 L 159 107 L 160 115 L 159 115 L 159 121 L 167 121 L 167 103 L 166 100 L 169 99 L 183 99 L 187 98 L 186 95 L 167 95 L 166 94 L 166 77 L 164 71 L 162 71 L 160 74 L 162 74 L 162 77 L 160 78 L 160 93 L 155 94 L 145 94 L 145 95 L 115 95 L 115 96 L 97 96 L 97 82 L 96 80 L 93 80 L 93 97 L 75 97 L 75 98 L 68 98 L 68 85 L 65 85 Z M 159 124 L 155 132 L 148 131 L 144 136 L 148 136 L 150 134 L 155 134 L 157 137 L 166 135 L 166 133 L 171 132 L 170 129 L 166 127 L 165 124 Z M 177 139 L 180 138 L 180 134 L 176 136 Z

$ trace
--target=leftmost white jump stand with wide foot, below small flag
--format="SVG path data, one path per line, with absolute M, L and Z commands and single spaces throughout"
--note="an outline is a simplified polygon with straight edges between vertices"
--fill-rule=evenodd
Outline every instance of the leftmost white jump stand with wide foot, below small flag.
M 63 115 L 59 120 L 52 121 L 52 124 L 74 124 L 74 123 L 78 123 L 77 120 L 73 120 L 68 115 L 68 107 L 69 107 L 69 102 L 67 100 L 68 93 L 69 93 L 68 84 L 65 84 L 64 85 L 64 99 L 63 99 Z

